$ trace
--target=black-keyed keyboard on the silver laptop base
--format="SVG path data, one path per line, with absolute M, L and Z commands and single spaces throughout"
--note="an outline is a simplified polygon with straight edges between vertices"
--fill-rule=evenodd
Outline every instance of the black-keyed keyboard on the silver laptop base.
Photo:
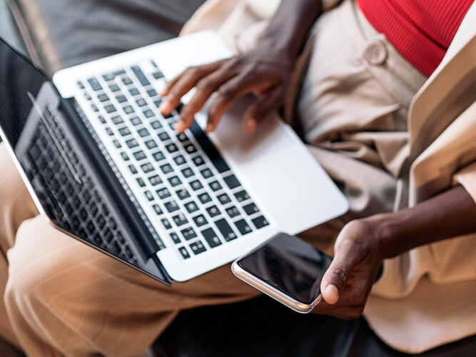
M 184 134 L 174 130 L 181 106 L 161 115 L 157 92 L 165 79 L 153 61 L 143 68 L 112 71 L 78 86 L 96 114 L 91 125 L 160 239 L 170 238 L 186 260 L 268 226 L 201 127 L 194 122 Z

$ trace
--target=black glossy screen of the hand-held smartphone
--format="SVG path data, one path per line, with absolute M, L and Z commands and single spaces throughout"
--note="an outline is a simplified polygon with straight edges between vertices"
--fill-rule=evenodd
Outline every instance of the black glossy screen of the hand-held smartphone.
M 300 303 L 310 304 L 320 294 L 320 281 L 331 261 L 300 238 L 278 233 L 237 263 Z

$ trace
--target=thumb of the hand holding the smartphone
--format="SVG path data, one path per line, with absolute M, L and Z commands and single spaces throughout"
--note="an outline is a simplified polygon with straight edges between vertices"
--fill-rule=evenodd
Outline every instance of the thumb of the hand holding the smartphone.
M 320 283 L 320 291 L 327 303 L 334 304 L 338 302 L 340 293 L 344 290 L 350 274 L 363 258 L 351 241 L 343 243 L 339 250 L 335 252 L 335 257 Z

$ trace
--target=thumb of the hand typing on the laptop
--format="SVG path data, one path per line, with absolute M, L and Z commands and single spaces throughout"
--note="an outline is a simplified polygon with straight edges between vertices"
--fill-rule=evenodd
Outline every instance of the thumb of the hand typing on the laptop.
M 243 114 L 243 127 L 245 132 L 255 131 L 258 121 L 265 118 L 271 111 L 278 109 L 283 100 L 283 88 L 275 87 L 261 94 L 258 99 L 248 106 Z

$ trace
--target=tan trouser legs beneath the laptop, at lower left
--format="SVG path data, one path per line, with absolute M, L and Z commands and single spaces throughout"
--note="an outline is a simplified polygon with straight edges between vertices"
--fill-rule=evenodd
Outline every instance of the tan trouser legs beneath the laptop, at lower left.
M 50 346 L 68 355 L 141 353 L 180 310 L 258 295 L 229 266 L 168 287 L 57 231 L 37 215 L 5 149 L 0 144 L 1 333 L 29 355 Z

